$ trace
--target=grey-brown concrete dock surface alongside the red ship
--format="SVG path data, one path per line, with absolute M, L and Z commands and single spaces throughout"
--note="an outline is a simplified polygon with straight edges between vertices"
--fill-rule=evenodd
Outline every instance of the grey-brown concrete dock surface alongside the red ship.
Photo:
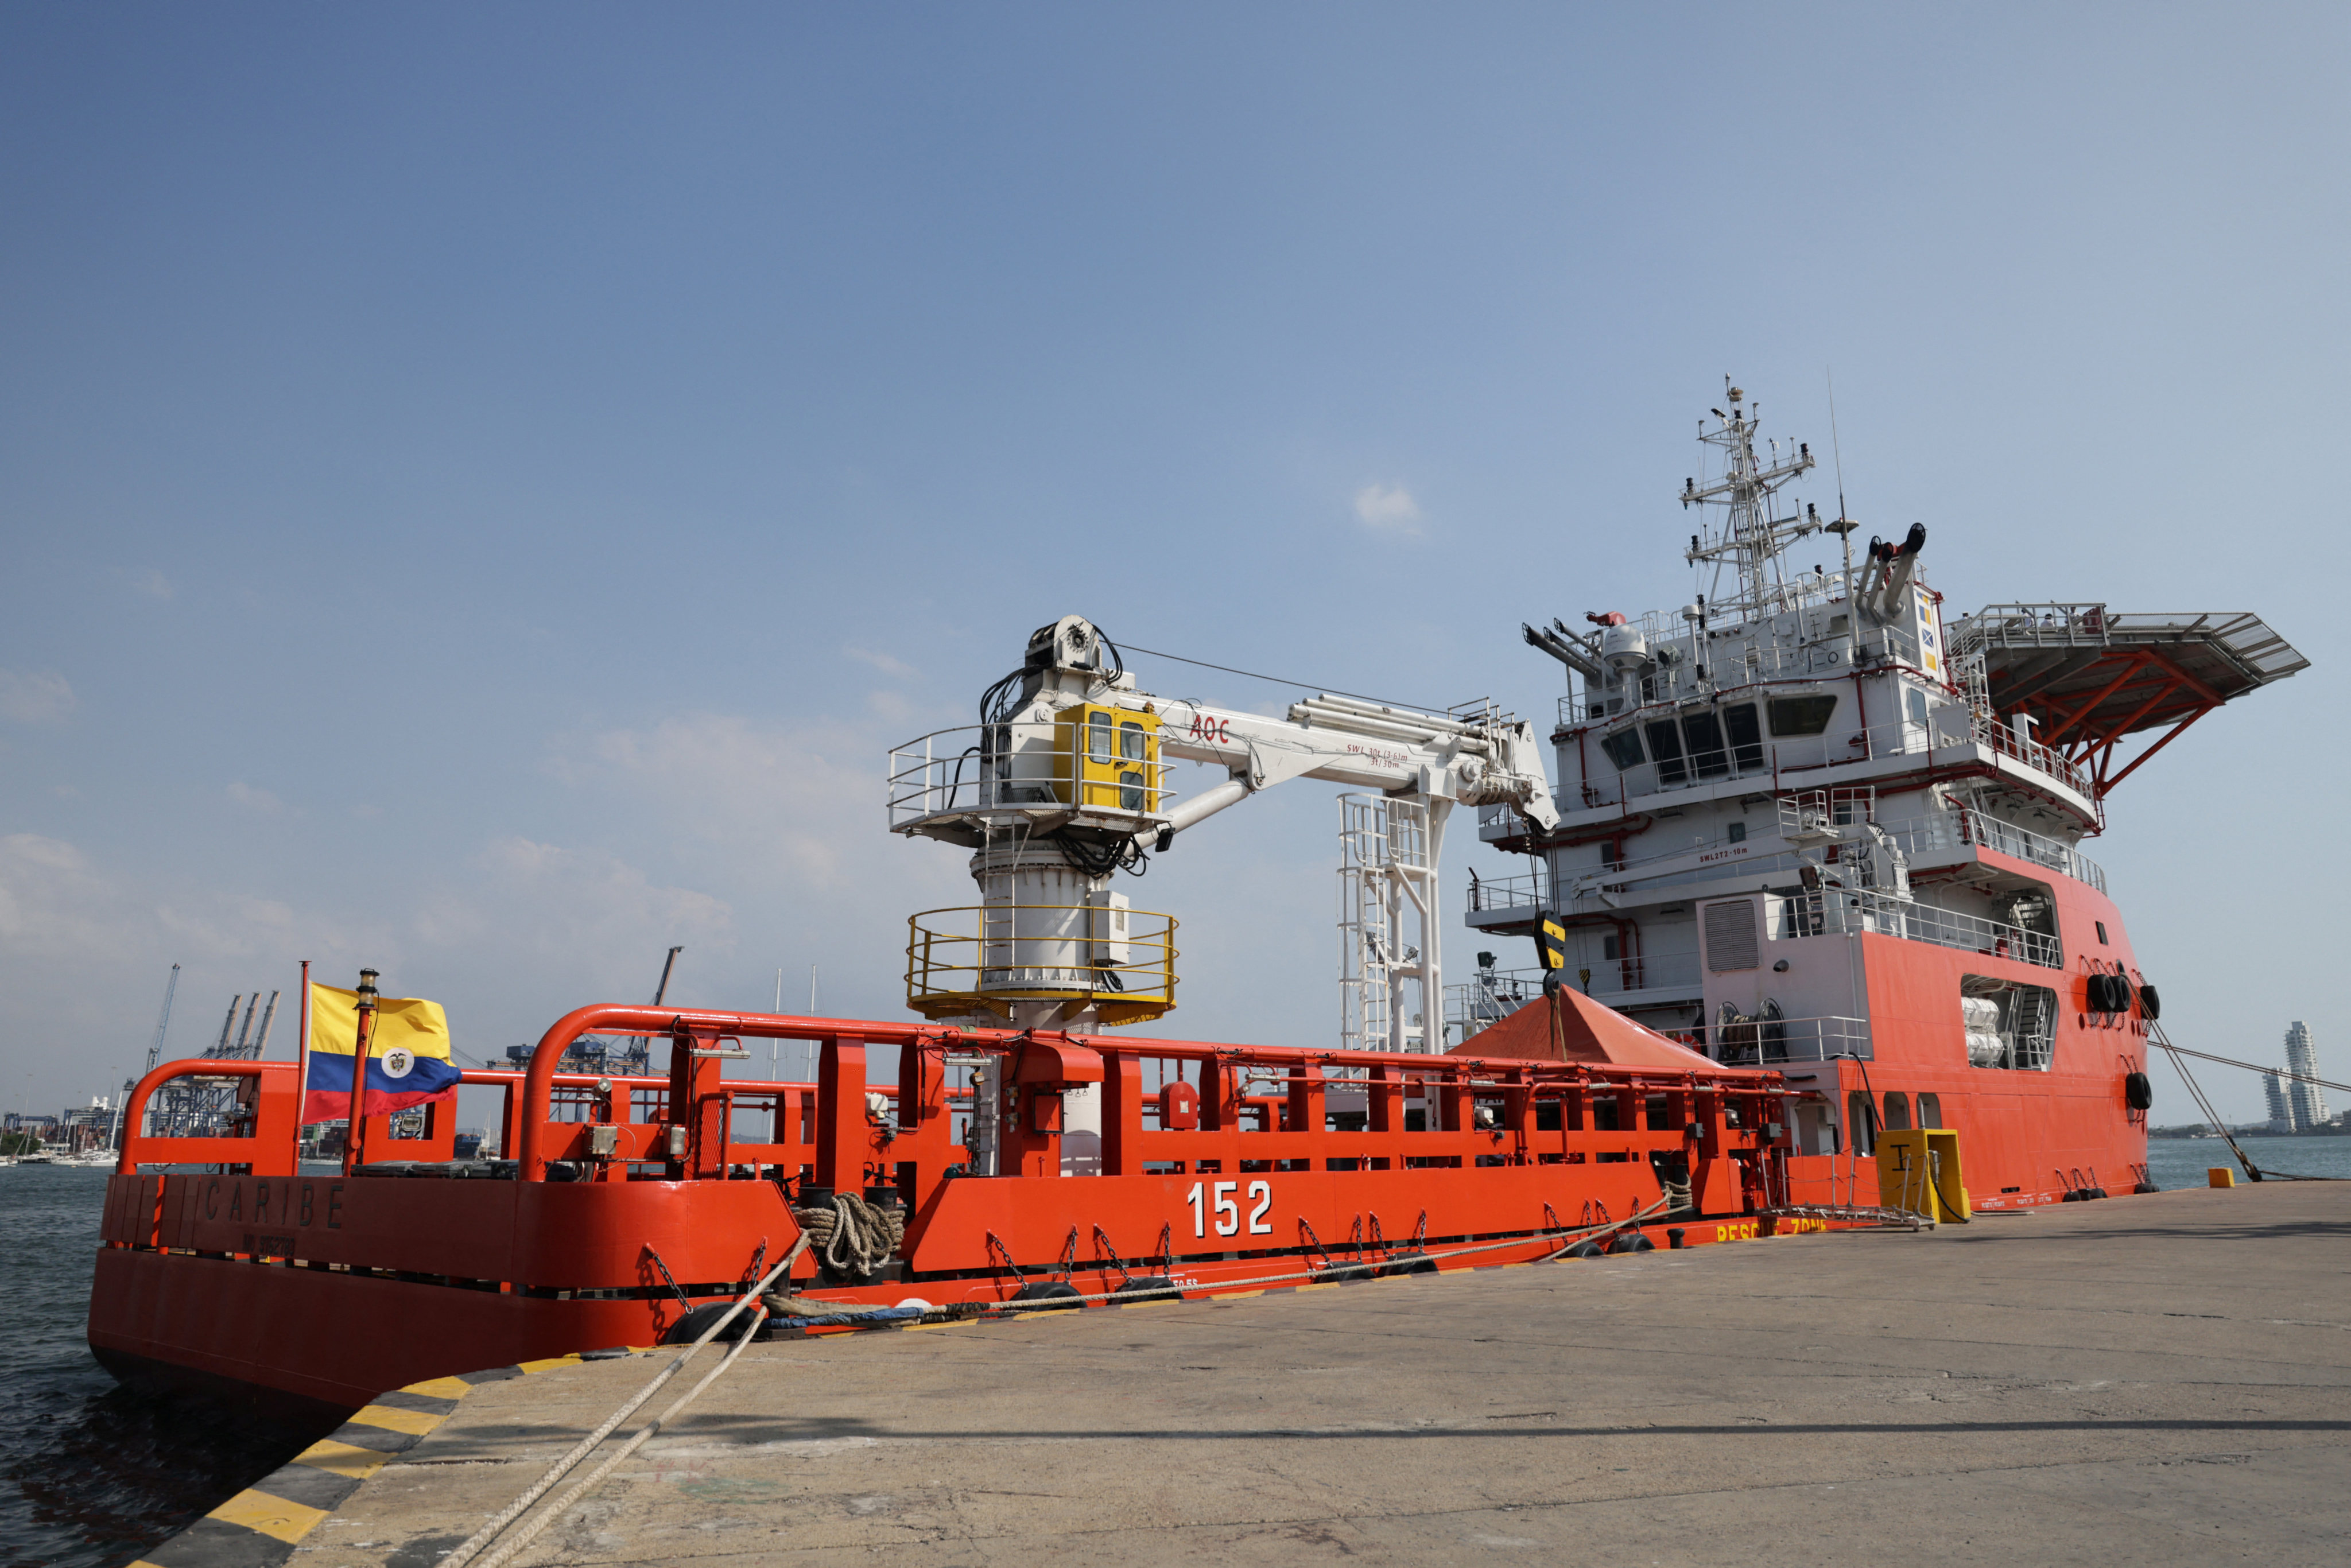
M 273 1533 L 282 1561 L 430 1568 L 670 1354 L 451 1389 Z M 2269 1182 L 759 1345 L 517 1561 L 2283 1568 L 2346 1542 L 2351 1185 Z

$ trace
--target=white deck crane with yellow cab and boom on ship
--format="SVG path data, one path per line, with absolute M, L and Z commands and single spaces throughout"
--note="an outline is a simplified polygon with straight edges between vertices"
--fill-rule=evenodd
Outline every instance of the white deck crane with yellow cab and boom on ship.
M 1173 762 L 1225 769 L 1190 799 Z M 1178 835 L 1293 778 L 1375 792 L 1411 818 L 1418 954 L 1385 954 L 1392 980 L 1444 999 L 1436 860 L 1455 804 L 1509 804 L 1559 823 L 1531 724 L 1495 710 L 1422 712 L 1312 696 L 1284 717 L 1208 708 L 1136 686 L 1117 644 L 1081 616 L 1037 628 L 1018 670 L 980 701 L 980 724 L 891 755 L 891 830 L 973 851 L 980 903 L 915 914 L 907 1004 L 940 1020 L 1091 1030 L 1176 1006 L 1176 922 L 1128 907 L 1117 870 L 1140 870 Z M 1373 1046 L 1406 1048 L 1401 1009 Z M 1439 1039 L 1432 1020 L 1425 1039 Z

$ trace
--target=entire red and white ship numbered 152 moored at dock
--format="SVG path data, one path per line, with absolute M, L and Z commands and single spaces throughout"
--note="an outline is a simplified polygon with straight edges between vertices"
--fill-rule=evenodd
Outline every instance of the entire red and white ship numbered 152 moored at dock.
M 919 1023 L 590 1006 L 456 1159 L 371 1117 L 296 1161 L 296 1063 L 183 1060 L 127 1107 L 89 1305 L 125 1378 L 343 1413 L 437 1375 L 649 1345 L 806 1234 L 785 1288 L 926 1312 L 1166 1300 L 2090 1197 L 2146 1180 L 2158 992 L 2081 842 L 2106 790 L 2224 701 L 2304 668 L 2255 616 L 1994 607 L 1944 628 L 1923 529 L 1775 496 L 1737 388 L 1686 505 L 1700 592 L 1528 628 L 1570 672 L 1549 733 L 1338 693 L 1286 717 L 1138 689 L 1041 628 L 978 724 L 893 757 L 891 827 L 971 851 L 980 903 L 912 919 Z M 1791 569 L 1836 534 L 1843 569 Z M 1712 574 L 1712 576 L 1709 576 Z M 2116 743 L 2158 731 L 2128 764 Z M 1190 797 L 1173 764 L 1225 776 Z M 1342 802 L 1338 1048 L 1112 1034 L 1176 1004 L 1176 922 L 1119 870 L 1293 778 Z M 1469 924 L 1538 966 L 1441 969 L 1453 806 L 1540 870 Z M 668 1072 L 567 1072 L 583 1037 Z M 726 1077 L 816 1044 L 816 1084 Z M 348 1072 L 348 1070 L 346 1070 Z M 167 1138 L 174 1079 L 240 1079 Z M 348 1081 L 348 1077 L 346 1077 Z M 1963 1164 L 1961 1164 L 1963 1161 Z M 823 1316 L 811 1319 L 823 1324 Z

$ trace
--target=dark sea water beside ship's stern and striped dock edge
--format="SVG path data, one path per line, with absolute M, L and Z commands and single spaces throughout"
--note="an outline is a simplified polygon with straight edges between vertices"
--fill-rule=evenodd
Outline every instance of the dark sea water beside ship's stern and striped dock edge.
M 89 1356 L 106 1175 L 0 1166 L 0 1568 L 129 1563 L 320 1436 L 125 1389 Z

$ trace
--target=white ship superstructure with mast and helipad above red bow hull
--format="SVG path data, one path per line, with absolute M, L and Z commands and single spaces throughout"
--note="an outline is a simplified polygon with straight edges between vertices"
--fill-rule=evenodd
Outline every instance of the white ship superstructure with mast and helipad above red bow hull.
M 2245 614 L 1947 621 L 1925 527 L 1855 552 L 1841 508 L 1782 498 L 1810 447 L 1766 440 L 1740 388 L 1726 404 L 1700 428 L 1719 470 L 1679 494 L 1707 520 L 1683 550 L 1693 599 L 1526 628 L 1568 670 L 1559 825 L 1481 811 L 1479 837 L 1533 867 L 1474 882 L 1469 926 L 1556 922 L 1594 1001 L 1784 1067 L 1806 1091 L 1796 1178 L 1911 1126 L 1977 1135 L 1970 1171 L 2001 1175 L 1970 1182 L 1987 1206 L 2144 1166 L 2128 1100 L 2161 1004 L 2083 839 L 2172 736 L 2306 661 Z M 1803 564 L 1808 538 L 1834 564 Z M 1455 1032 L 1535 980 L 1481 954 Z M 2064 1114 L 2029 1131 L 2027 1103 Z

